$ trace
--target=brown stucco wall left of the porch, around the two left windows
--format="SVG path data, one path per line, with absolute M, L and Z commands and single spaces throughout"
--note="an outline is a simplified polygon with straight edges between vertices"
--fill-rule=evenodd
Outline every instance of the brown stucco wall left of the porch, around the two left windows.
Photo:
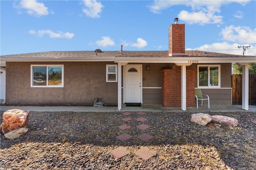
M 63 88 L 30 87 L 31 64 L 64 64 Z M 117 103 L 117 82 L 106 82 L 106 64 L 114 62 L 7 62 L 7 103 Z M 116 96 L 116 97 L 115 97 Z

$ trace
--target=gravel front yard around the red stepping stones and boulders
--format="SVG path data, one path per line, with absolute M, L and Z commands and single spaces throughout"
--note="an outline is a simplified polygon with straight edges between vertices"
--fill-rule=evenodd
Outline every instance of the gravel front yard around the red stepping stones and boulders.
M 122 113 L 30 111 L 25 135 L 8 140 L 1 134 L 0 170 L 256 169 L 256 112 L 204 112 L 236 118 L 232 130 L 192 123 L 195 112 Z M 126 117 L 132 120 L 122 121 Z M 150 128 L 138 129 L 138 117 L 145 117 Z M 123 124 L 132 128 L 121 130 Z M 116 138 L 123 133 L 132 138 Z M 142 133 L 154 138 L 142 141 Z M 120 146 L 130 153 L 115 159 L 109 151 Z M 134 154 L 145 146 L 157 153 L 146 161 Z

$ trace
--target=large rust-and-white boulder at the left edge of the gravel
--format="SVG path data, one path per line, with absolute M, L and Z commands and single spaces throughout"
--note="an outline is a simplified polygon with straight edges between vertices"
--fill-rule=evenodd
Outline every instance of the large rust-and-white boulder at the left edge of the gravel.
M 3 114 L 1 132 L 8 139 L 14 139 L 28 131 L 29 112 L 20 109 L 11 109 Z

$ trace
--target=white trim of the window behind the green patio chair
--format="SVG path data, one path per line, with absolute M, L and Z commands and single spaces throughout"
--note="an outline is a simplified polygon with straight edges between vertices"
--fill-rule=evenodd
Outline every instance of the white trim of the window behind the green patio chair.
M 199 86 L 199 67 L 207 66 L 207 77 L 208 77 L 208 86 Z M 218 67 L 218 86 L 210 86 L 210 67 Z M 197 65 L 197 87 L 198 88 L 220 88 L 220 64 L 200 64 Z

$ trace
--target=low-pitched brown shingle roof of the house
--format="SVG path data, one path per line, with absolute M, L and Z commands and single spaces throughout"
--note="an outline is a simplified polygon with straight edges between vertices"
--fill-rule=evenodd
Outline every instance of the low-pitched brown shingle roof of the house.
M 256 56 L 242 56 L 231 55 L 223 53 L 213 53 L 206 51 L 185 51 L 185 56 L 177 57 L 256 57 Z M 26 53 L 15 55 L 2 55 L 1 58 L 58 58 L 58 57 L 82 57 L 82 58 L 95 58 L 95 57 L 170 57 L 168 51 L 103 51 L 103 53 L 96 53 L 94 51 L 48 51 L 38 53 Z M 176 56 L 172 56 L 176 57 Z

